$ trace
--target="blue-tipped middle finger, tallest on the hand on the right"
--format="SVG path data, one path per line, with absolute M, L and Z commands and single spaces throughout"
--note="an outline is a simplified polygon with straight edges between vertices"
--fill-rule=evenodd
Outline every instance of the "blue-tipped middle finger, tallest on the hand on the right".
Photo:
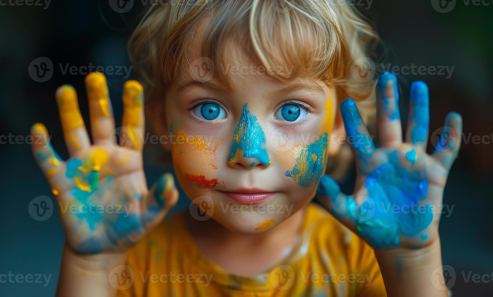
M 380 75 L 377 82 L 377 125 L 380 146 L 402 143 L 397 77 L 389 72 Z

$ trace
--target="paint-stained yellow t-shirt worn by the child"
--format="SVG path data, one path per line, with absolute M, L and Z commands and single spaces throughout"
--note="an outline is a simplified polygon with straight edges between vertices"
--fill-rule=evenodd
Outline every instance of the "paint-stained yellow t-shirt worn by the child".
M 306 209 L 302 239 L 291 255 L 253 277 L 206 259 L 184 219 L 165 219 L 131 250 L 133 273 L 126 275 L 133 278 L 125 287 L 131 286 L 118 296 L 386 296 L 373 249 L 316 204 Z

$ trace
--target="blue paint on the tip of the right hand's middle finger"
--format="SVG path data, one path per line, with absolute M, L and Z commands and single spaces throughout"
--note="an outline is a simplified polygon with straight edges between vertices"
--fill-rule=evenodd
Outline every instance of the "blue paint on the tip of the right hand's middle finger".
M 400 120 L 397 77 L 392 73 L 385 72 L 378 78 L 377 109 L 379 115 L 388 116 L 391 120 Z

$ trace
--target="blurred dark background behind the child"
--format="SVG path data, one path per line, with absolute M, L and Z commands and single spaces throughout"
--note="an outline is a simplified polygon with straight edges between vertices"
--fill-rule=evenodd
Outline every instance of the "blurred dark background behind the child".
M 125 13 L 113 10 L 112 0 L 53 0 L 48 5 L 38 2 L 31 6 L 27 2 L 0 1 L 0 135 L 25 139 L 31 125 L 42 122 L 53 135 L 54 148 L 67 158 L 55 89 L 64 83 L 75 86 L 88 123 L 83 84 L 87 69 L 83 67 L 105 68 L 118 127 L 123 82 L 137 78 L 134 72 L 127 75 L 131 64 L 126 41 L 142 16 L 145 1 L 130 0 L 133 5 Z M 440 222 L 442 256 L 444 265 L 455 270 L 454 296 L 487 296 L 493 292 L 493 2 L 474 5 L 473 1 L 454 0 L 455 7 L 446 13 L 434 9 L 433 0 L 374 0 L 371 5 L 366 0 L 352 2 L 359 3 L 358 9 L 374 22 L 382 37 L 376 60 L 378 73 L 382 72 L 380 63 L 403 71 L 402 67 L 413 65 L 437 70 L 447 66 L 449 71 L 454 67 L 451 75 L 446 70 L 444 75 L 431 71 L 398 75 L 401 111 L 407 114 L 410 83 L 424 80 L 430 89 L 430 133 L 443 126 L 448 111 L 463 116 L 462 148 L 444 197 L 444 203 L 454 205 L 454 209 Z M 33 72 L 34 65 L 39 67 L 38 74 L 48 69 L 42 78 Z M 67 66 L 78 70 L 64 73 Z M 117 73 L 119 68 L 121 73 Z M 475 142 L 474 136 L 482 140 Z M 35 197 L 46 195 L 53 202 L 54 197 L 29 145 L 1 144 L 0 153 L 0 274 L 51 274 L 47 285 L 1 282 L 0 295 L 53 296 L 64 241 L 62 225 L 56 210 L 48 220 L 36 221 L 28 206 Z M 150 155 L 144 153 L 148 183 L 170 171 L 165 165 L 156 165 L 159 162 Z M 352 183 L 349 180 L 344 185 L 347 192 L 352 190 Z M 189 203 L 183 196 L 179 200 L 174 211 Z M 475 282 L 467 277 L 470 273 L 489 276 Z

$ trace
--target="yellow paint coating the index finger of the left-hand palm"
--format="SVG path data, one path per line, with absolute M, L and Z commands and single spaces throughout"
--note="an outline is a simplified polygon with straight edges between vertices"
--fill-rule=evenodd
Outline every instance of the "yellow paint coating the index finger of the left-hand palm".
M 144 89 L 136 80 L 127 80 L 123 85 L 123 120 L 129 129 L 128 138 L 133 147 L 138 149 L 136 127 L 141 123 L 142 107 L 144 105 Z

